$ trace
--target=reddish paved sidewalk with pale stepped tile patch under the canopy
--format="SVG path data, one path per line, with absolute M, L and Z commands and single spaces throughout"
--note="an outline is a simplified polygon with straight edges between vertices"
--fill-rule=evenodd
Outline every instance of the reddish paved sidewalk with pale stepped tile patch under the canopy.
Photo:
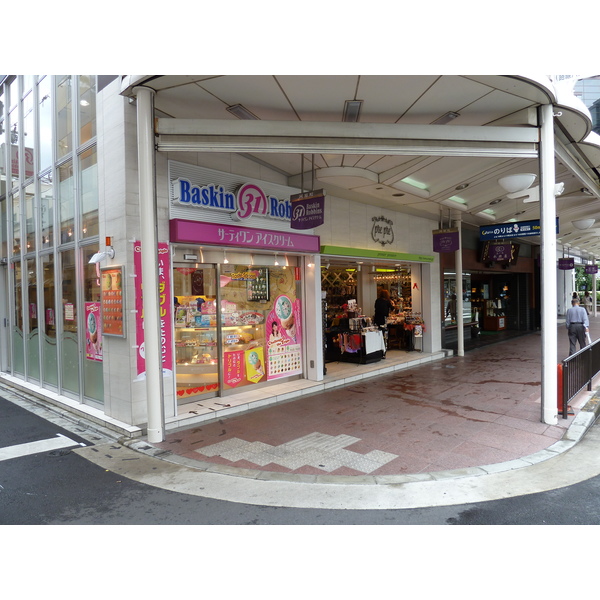
M 590 330 L 592 339 L 600 336 L 600 316 L 590 318 Z M 451 477 L 484 465 L 487 471 L 512 469 L 519 464 L 514 461 L 552 446 L 570 447 L 560 440 L 593 396 L 584 390 L 571 402 L 575 415 L 559 414 L 556 425 L 541 422 L 539 333 L 464 357 L 422 356 L 431 362 L 402 368 L 403 360 L 419 354 L 389 352 L 374 367 L 389 372 L 354 381 L 348 371 L 354 365 L 329 364 L 329 389 L 321 385 L 311 393 L 303 381 L 304 395 L 297 399 L 170 431 L 150 448 L 173 462 L 246 477 L 362 483 L 431 473 Z M 563 321 L 557 363 L 567 354 Z M 346 384 L 334 387 L 336 379 Z M 594 415 L 581 416 L 593 422 Z M 150 449 L 147 442 L 127 445 Z

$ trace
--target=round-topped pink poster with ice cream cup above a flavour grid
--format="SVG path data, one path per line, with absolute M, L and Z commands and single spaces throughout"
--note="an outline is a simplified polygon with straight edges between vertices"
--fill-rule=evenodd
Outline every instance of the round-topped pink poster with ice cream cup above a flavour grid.
M 267 379 L 302 373 L 300 300 L 282 294 L 267 316 Z

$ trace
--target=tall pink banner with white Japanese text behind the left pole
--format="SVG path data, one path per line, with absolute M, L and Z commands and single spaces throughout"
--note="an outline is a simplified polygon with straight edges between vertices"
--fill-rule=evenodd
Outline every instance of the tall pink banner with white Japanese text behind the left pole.
M 144 346 L 144 305 L 142 299 L 142 244 L 133 245 L 135 269 L 135 337 L 137 352 L 137 379 L 146 377 L 146 353 Z M 158 297 L 160 307 L 160 338 L 163 375 L 173 375 L 173 311 L 171 293 L 171 260 L 169 244 L 158 244 Z

